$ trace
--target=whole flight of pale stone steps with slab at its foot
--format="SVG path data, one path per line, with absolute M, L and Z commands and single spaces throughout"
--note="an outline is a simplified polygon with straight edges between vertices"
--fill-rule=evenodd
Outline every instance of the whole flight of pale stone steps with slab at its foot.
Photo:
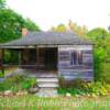
M 38 97 L 57 97 L 58 78 L 54 74 L 41 74 L 36 76 L 40 91 L 35 94 Z

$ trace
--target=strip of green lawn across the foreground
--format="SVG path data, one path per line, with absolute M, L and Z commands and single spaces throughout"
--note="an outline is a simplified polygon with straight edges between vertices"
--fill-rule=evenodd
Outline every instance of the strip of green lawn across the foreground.
M 4 97 L 0 98 L 0 110 L 110 110 L 110 97 Z

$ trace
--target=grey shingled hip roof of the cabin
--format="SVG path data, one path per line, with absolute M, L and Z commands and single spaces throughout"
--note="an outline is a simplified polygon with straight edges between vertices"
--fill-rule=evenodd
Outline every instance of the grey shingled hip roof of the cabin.
M 29 32 L 28 35 L 4 43 L 2 46 L 28 45 L 90 45 L 91 42 L 77 36 L 73 32 Z

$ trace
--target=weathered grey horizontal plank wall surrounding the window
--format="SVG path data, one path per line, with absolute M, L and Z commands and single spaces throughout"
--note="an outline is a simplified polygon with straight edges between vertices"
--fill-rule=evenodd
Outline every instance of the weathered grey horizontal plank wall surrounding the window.
M 70 53 L 74 51 L 82 52 L 81 65 L 70 65 Z M 75 78 L 92 80 L 92 45 L 58 46 L 58 74 L 68 80 Z

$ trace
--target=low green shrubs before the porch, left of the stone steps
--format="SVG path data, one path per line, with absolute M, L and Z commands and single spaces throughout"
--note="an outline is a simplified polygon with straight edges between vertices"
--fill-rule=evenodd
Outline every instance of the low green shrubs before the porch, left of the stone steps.
M 6 78 L 4 81 L 0 82 L 0 91 L 4 90 L 12 90 L 16 92 L 18 90 L 30 89 L 31 87 L 35 86 L 36 80 L 35 78 L 26 77 L 25 75 L 12 75 Z

